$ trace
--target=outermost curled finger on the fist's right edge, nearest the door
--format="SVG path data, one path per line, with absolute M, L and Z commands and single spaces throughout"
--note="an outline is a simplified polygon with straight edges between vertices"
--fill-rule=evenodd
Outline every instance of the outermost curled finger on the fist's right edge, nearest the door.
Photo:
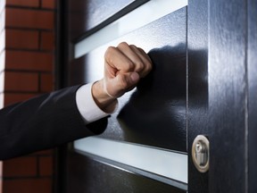
M 142 71 L 140 71 L 139 74 L 140 74 L 140 77 L 145 77 L 149 73 L 149 71 L 151 71 L 153 68 L 152 61 L 149 55 L 147 55 L 142 48 L 137 47 L 135 45 L 130 45 L 130 47 L 144 63 L 144 68 L 142 68 Z

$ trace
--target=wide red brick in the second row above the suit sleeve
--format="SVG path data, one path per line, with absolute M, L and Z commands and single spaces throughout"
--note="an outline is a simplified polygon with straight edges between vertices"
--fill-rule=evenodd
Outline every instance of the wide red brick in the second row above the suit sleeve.
M 6 91 L 34 91 L 38 90 L 37 73 L 5 72 L 4 88 Z

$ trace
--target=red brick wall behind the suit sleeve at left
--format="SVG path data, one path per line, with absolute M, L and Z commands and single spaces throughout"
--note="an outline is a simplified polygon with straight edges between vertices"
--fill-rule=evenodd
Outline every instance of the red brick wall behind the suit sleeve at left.
M 4 105 L 53 90 L 54 14 L 55 0 L 6 0 L 5 27 L 2 20 L 0 26 L 5 28 L 5 46 L 0 46 Z M 4 161 L 0 193 L 53 192 L 53 166 L 54 150 Z

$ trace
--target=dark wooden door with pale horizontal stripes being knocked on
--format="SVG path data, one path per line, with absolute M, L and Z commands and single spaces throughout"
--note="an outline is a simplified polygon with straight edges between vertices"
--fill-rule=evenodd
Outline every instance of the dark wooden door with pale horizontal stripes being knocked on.
M 153 61 L 103 134 L 64 149 L 60 192 L 256 191 L 256 1 L 60 5 L 62 86 L 101 79 L 104 51 L 121 41 Z M 204 173 L 192 161 L 197 135 L 210 141 Z

